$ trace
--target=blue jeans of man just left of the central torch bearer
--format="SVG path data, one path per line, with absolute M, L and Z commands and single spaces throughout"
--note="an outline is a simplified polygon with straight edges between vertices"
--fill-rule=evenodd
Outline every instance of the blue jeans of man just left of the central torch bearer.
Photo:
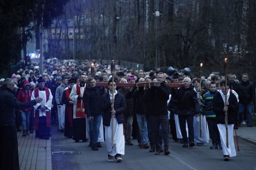
M 89 128 L 90 128 L 90 142 L 93 144 L 97 144 L 99 133 L 100 133 L 100 122 L 101 122 L 102 115 L 93 116 L 93 119 L 89 121 Z

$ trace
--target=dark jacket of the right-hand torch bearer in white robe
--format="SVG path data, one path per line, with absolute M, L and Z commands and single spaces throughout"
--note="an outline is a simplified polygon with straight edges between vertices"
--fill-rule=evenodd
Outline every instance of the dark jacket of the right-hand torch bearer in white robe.
M 228 124 L 234 124 L 235 116 L 238 110 L 237 98 L 234 94 L 230 93 L 228 98 Z M 225 112 L 223 111 L 224 101 L 221 97 L 221 93 L 217 93 L 212 100 L 212 109 L 216 113 L 216 123 L 225 124 Z

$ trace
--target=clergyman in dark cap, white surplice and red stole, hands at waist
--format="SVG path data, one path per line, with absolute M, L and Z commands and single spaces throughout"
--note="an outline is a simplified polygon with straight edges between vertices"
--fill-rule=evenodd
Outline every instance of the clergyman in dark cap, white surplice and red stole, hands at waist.
M 43 101 L 34 106 L 34 130 L 35 137 L 39 139 L 49 139 L 51 137 L 51 117 L 53 96 L 51 90 L 44 87 L 45 80 L 40 77 L 38 80 L 38 88 L 32 92 L 31 100 L 38 96 L 43 98 Z

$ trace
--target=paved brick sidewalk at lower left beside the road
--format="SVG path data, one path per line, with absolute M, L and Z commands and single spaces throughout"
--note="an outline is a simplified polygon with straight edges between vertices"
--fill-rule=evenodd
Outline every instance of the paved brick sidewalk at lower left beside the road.
M 51 139 L 35 138 L 35 132 L 23 137 L 17 132 L 19 168 L 21 170 L 52 170 Z

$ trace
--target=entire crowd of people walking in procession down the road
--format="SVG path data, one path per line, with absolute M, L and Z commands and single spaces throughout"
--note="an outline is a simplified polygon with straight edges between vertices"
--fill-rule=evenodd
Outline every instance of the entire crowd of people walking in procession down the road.
M 202 146 L 211 138 L 209 149 L 222 149 L 228 161 L 236 156 L 233 129 L 245 124 L 252 127 L 255 91 L 247 73 L 237 83 L 234 74 L 211 74 L 205 80 L 184 73 L 167 75 L 160 69 L 113 68 L 101 61 L 53 61 L 43 67 L 42 75 L 38 63 L 33 63 L 12 79 L 0 80 L 0 135 L 10 133 L 15 139 L 17 113 L 22 109 L 23 137 L 29 135 L 32 125 L 36 138 L 50 139 L 51 123 L 57 122 L 63 136 L 74 142 L 88 141 L 93 151 L 105 142 L 108 161 L 122 162 L 125 145 L 134 145 L 132 137 L 139 148 L 169 155 L 170 133 L 173 142 L 182 143 L 183 148 Z M 0 153 L 11 138 L 0 140 Z M 12 166 L 17 167 L 16 139 L 12 142 Z M 8 157 L 1 155 L 0 159 L 0 169 L 5 168 Z

